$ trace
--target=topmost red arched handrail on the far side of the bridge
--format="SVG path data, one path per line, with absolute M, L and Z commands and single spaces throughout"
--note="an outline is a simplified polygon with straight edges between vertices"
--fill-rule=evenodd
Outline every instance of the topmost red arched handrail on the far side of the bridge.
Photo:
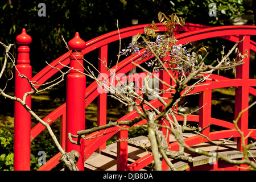
M 138 25 L 138 26 L 122 28 L 122 29 L 119 30 L 119 32 L 117 30 L 117 31 L 110 32 L 108 34 L 104 34 L 104 35 L 98 36 L 97 38 L 94 38 L 94 39 L 89 40 L 88 42 L 86 42 L 86 48 L 82 51 L 82 53 L 86 54 L 86 53 L 88 53 L 90 51 L 93 51 L 94 49 L 97 49 L 97 48 L 99 48 L 101 46 L 104 46 L 106 44 L 109 44 L 111 42 L 119 40 L 119 35 L 120 35 L 121 39 L 124 39 L 124 38 L 127 38 L 129 36 L 137 35 L 138 32 L 142 33 L 143 30 L 144 30 L 144 27 L 147 26 L 147 25 L 148 24 L 142 24 L 142 25 Z M 165 30 L 165 27 L 162 25 L 162 23 L 157 23 L 156 25 L 158 26 L 159 31 L 164 31 Z M 228 30 L 231 30 L 232 28 L 236 28 L 236 31 L 243 30 L 243 27 L 245 27 L 245 28 L 248 28 L 248 27 L 253 28 L 253 26 L 223 26 L 223 27 L 228 27 Z M 222 30 L 222 27 L 221 28 L 218 28 L 218 27 L 216 28 L 216 27 L 204 26 L 204 25 L 201 25 L 201 24 L 186 23 L 184 27 L 177 26 L 176 27 L 176 31 L 191 31 L 190 32 L 191 34 L 184 35 L 184 33 L 183 33 L 182 35 L 184 35 L 184 37 L 180 37 L 180 35 L 181 35 L 180 34 L 180 35 L 177 35 L 176 39 L 178 39 L 178 38 L 186 38 L 186 36 L 187 37 L 188 36 L 193 36 L 192 32 L 194 32 L 194 34 L 195 34 L 195 31 L 200 31 L 202 28 L 204 29 L 204 31 L 203 31 L 204 34 L 206 33 L 205 29 L 207 29 L 207 28 L 211 28 L 210 30 L 208 30 L 208 32 L 209 31 L 216 31 L 217 32 L 217 31 Z M 247 29 L 247 31 L 248 31 L 248 29 Z M 234 34 L 232 34 L 231 36 L 229 36 L 230 34 L 229 35 L 226 35 L 226 34 L 224 34 L 224 35 L 216 35 L 216 36 L 220 36 L 221 38 L 230 40 L 232 42 L 237 42 L 238 41 L 238 37 L 235 36 L 235 35 L 241 34 L 241 33 L 242 32 L 234 32 Z M 200 33 L 197 32 L 197 34 L 200 34 Z M 252 34 L 250 34 L 250 35 L 252 35 Z M 253 42 L 253 41 L 250 41 L 250 44 L 251 44 L 251 47 L 250 47 L 251 50 L 256 52 L 256 43 Z M 55 61 L 52 61 L 52 63 L 50 65 L 52 67 L 57 67 L 59 69 L 63 68 L 63 66 L 59 65 L 59 62 L 64 64 L 64 65 L 68 65 L 69 62 L 70 62 L 69 55 L 70 55 L 69 52 L 65 53 L 64 55 L 58 57 Z M 53 69 L 52 67 L 47 65 L 47 67 L 45 67 L 44 69 L 42 69 L 42 71 L 40 71 L 38 74 L 36 74 L 32 78 L 32 80 L 33 81 L 37 81 L 38 85 L 43 84 L 46 80 L 48 80 L 48 78 L 50 78 L 52 75 L 54 75 L 57 72 L 57 69 Z

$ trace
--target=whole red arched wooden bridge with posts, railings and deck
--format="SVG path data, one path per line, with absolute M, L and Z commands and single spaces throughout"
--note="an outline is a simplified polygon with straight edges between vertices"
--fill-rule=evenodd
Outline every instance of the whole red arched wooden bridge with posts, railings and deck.
M 109 78 L 112 76 L 107 69 L 104 67 L 108 63 L 108 44 L 119 41 L 119 36 L 121 39 L 128 38 L 130 36 L 137 35 L 138 32 L 142 33 L 145 24 L 139 26 L 133 26 L 128 28 L 123 28 L 118 31 L 113 31 L 108 34 L 99 36 L 95 39 L 84 42 L 78 33 L 76 33 L 75 38 L 73 38 L 68 46 L 72 50 L 73 56 L 70 52 L 65 53 L 64 55 L 57 58 L 55 61 L 52 61 L 50 65 L 47 65 L 46 68 L 42 69 L 37 75 L 31 77 L 31 66 L 29 59 L 29 47 L 28 44 L 31 43 L 31 37 L 26 34 L 26 31 L 23 29 L 22 34 L 18 35 L 16 41 L 20 44 L 18 48 L 18 59 L 17 59 L 17 68 L 19 69 L 20 74 L 23 74 L 30 78 L 32 81 L 36 81 L 38 85 L 44 84 L 48 78 L 52 77 L 59 70 L 62 69 L 63 65 L 69 65 L 71 68 L 78 69 L 80 72 L 73 71 L 67 76 L 67 102 L 56 110 L 52 111 L 43 121 L 51 124 L 55 122 L 57 118 L 61 118 L 60 121 L 60 144 L 65 149 L 66 152 L 71 150 L 76 150 L 80 152 L 80 159 L 77 163 L 77 166 L 80 170 L 83 170 L 84 167 L 89 169 L 88 166 L 92 166 L 93 163 L 97 163 L 98 160 L 101 160 L 97 156 L 101 154 L 95 153 L 98 149 L 102 151 L 102 154 L 105 151 L 105 154 L 108 153 L 108 160 L 106 165 L 113 163 L 114 168 L 103 168 L 100 166 L 94 166 L 94 169 L 117 169 L 117 170 L 141 170 L 147 169 L 147 166 L 152 162 L 152 155 L 143 153 L 140 150 L 140 154 L 137 155 L 137 158 L 131 159 L 131 146 L 127 142 L 117 142 L 115 143 L 116 149 L 112 151 L 112 154 L 115 153 L 115 156 L 110 154 L 110 148 L 106 147 L 106 140 L 108 140 L 113 135 L 117 134 L 118 138 L 127 138 L 126 130 L 118 130 L 118 127 L 112 127 L 110 129 L 97 131 L 93 134 L 87 135 L 87 140 L 83 140 L 80 146 L 72 144 L 69 142 L 68 133 L 76 134 L 79 130 L 84 130 L 86 121 L 85 121 L 85 107 L 87 107 L 94 99 L 97 99 L 98 103 L 98 126 L 106 124 L 106 101 L 107 93 L 99 93 L 98 85 L 96 81 L 90 84 L 87 88 L 85 86 L 86 77 L 81 72 L 84 72 L 83 61 L 81 56 L 86 56 L 86 53 L 91 51 L 98 51 L 98 70 L 101 73 L 105 73 Z M 159 31 L 164 31 L 165 27 L 162 24 L 157 24 Z M 194 42 L 197 40 L 209 39 L 219 37 L 222 39 L 230 40 L 231 42 L 238 42 L 239 40 L 244 40 L 238 45 L 240 52 L 245 53 L 247 51 L 256 52 L 256 43 L 250 40 L 250 35 L 256 35 L 255 26 L 221 26 L 221 27 L 207 27 L 200 24 L 185 24 L 185 27 L 176 27 L 175 38 L 178 40 L 177 44 L 184 44 L 187 42 Z M 142 64 L 144 61 L 151 59 L 151 57 L 146 57 L 145 59 L 139 60 L 143 53 L 146 50 L 142 49 L 139 53 L 135 53 L 132 56 L 126 57 L 126 59 L 119 61 L 116 69 L 116 73 L 128 73 L 133 69 L 134 65 L 131 61 L 138 61 L 137 64 Z M 77 60 L 78 61 L 77 61 Z M 217 88 L 226 88 L 226 87 L 236 87 L 236 98 L 235 98 L 235 114 L 234 118 L 238 116 L 240 111 L 246 109 L 249 106 L 249 94 L 256 96 L 256 89 L 253 86 L 256 86 L 256 80 L 249 78 L 249 57 L 245 57 L 244 64 L 236 68 L 236 78 L 230 79 L 218 75 L 210 75 L 210 78 L 217 81 L 207 81 L 207 84 L 201 84 L 193 89 L 192 93 L 199 93 L 200 101 L 199 107 L 204 106 L 200 109 L 199 115 L 188 115 L 187 121 L 198 122 L 199 126 L 204 128 L 208 126 L 209 123 L 213 125 L 221 126 L 225 128 L 221 131 L 210 132 L 209 128 L 203 131 L 203 134 L 206 135 L 210 140 L 218 141 L 227 138 L 236 138 L 236 142 L 228 142 L 226 149 L 228 153 L 226 155 L 229 158 L 243 158 L 242 155 L 242 143 L 241 135 L 235 129 L 233 123 L 228 121 L 223 121 L 221 119 L 216 119 L 211 117 L 211 102 L 212 102 L 212 90 Z M 61 65 L 61 64 L 63 65 Z M 113 68 L 115 68 L 114 66 Z M 55 69 L 58 68 L 58 69 Z M 141 73 L 140 73 L 141 74 Z M 160 71 L 159 76 L 163 81 L 172 84 L 170 77 L 164 76 L 166 73 Z M 138 84 L 138 82 L 137 82 Z M 141 86 L 138 84 L 138 86 Z M 165 88 L 163 85 L 159 85 L 162 89 Z M 37 86 L 36 88 L 39 88 Z M 28 84 L 27 80 L 22 79 L 16 73 L 15 76 L 15 96 L 22 98 L 23 94 L 30 92 L 31 87 Z M 27 98 L 27 105 L 31 107 L 31 97 Z M 150 104 L 154 107 L 161 107 L 162 104 L 158 100 L 151 100 Z M 146 106 L 147 108 L 148 106 Z M 149 108 L 148 108 L 149 109 Z M 250 138 L 256 139 L 256 130 L 248 128 L 248 111 L 245 111 L 238 126 L 243 131 L 245 136 L 250 134 Z M 123 115 L 118 121 L 131 120 L 138 117 L 137 112 L 131 111 L 130 113 Z M 180 121 L 183 121 L 183 117 L 177 116 Z M 30 142 L 39 135 L 45 127 L 38 123 L 34 128 L 31 129 L 31 115 L 20 105 L 18 102 L 15 102 L 15 131 L 14 131 L 14 169 L 15 170 L 30 170 Z M 144 121 L 138 123 L 142 125 Z M 101 135 L 104 134 L 104 135 Z M 100 136 L 101 137 L 97 137 Z M 199 135 L 185 135 L 185 142 L 189 146 L 202 147 L 200 144 L 209 144 L 207 139 Z M 90 139 L 89 139 L 90 138 Z M 146 138 L 143 138 L 146 140 Z M 75 140 L 75 139 L 74 139 Z M 246 139 L 246 142 L 248 139 Z M 178 143 L 170 137 L 169 146 L 171 150 L 177 151 L 179 149 Z M 113 146 L 110 146 L 113 147 Z M 134 148 L 133 148 L 134 149 Z M 129 151 L 130 150 L 130 151 Z M 220 148 L 215 148 L 214 150 L 220 150 Z M 106 152 L 109 151 L 109 152 Z M 188 154 L 191 155 L 191 154 Z M 59 161 L 61 154 L 58 153 L 53 158 L 49 159 L 46 164 L 39 168 L 39 170 L 50 170 L 55 167 Z M 81 157 L 82 156 L 82 157 Z M 256 151 L 250 151 L 250 157 L 256 156 Z M 95 159 L 95 160 L 93 160 Z M 206 160 L 208 159 L 208 160 Z M 93 162 L 94 161 L 94 162 Z M 200 164 L 196 164 L 199 162 Z M 240 168 L 235 167 L 234 165 L 224 163 L 221 161 L 214 162 L 209 164 L 209 157 L 204 159 L 195 160 L 193 164 L 187 164 L 184 162 L 174 163 L 175 166 L 181 170 L 239 170 Z M 241 165 L 242 166 L 242 165 Z M 93 168 L 90 168 L 93 169 Z M 163 164 L 163 169 L 167 170 L 168 167 Z

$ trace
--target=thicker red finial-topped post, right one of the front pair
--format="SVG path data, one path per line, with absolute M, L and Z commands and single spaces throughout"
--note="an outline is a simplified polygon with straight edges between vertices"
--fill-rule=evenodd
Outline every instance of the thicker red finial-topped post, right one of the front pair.
M 86 46 L 84 40 L 76 32 L 75 37 L 68 42 L 69 49 L 72 50 L 70 56 L 70 73 L 67 75 L 67 133 L 66 133 L 66 152 L 76 150 L 80 154 L 77 167 L 80 171 L 84 170 L 84 140 L 81 139 L 81 144 L 72 144 L 68 139 L 68 133 L 76 134 L 78 130 L 85 129 L 85 88 L 86 77 L 81 72 L 84 72 L 82 49 Z

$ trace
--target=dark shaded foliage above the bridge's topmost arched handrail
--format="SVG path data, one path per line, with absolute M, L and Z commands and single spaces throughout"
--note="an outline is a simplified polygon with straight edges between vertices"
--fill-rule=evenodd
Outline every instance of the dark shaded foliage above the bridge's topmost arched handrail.
M 46 17 L 38 16 L 38 4 L 46 4 Z M 208 5 L 215 2 L 217 17 L 208 15 Z M 30 58 L 34 73 L 67 52 L 61 35 L 70 40 L 75 32 L 85 41 L 131 26 L 132 19 L 139 24 L 158 22 L 158 13 L 166 15 L 181 13 L 186 22 L 219 26 L 230 24 L 229 20 L 245 14 L 242 1 L 167 1 L 167 0 L 47 0 L 47 1 L 1 1 L 0 2 L 0 40 L 6 44 L 14 43 L 15 38 L 26 28 L 32 37 Z M 2 56 L 2 55 L 0 55 Z

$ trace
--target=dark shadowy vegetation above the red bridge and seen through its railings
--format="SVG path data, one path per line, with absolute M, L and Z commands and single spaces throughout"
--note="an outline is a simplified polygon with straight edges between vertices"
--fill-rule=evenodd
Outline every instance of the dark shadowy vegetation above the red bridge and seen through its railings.
M 41 2 L 46 4 L 46 17 L 38 16 L 38 4 Z M 216 17 L 210 17 L 208 15 L 208 5 L 212 2 L 217 5 Z M 253 2 L 254 5 L 251 5 L 251 2 Z M 248 11 L 253 8 L 255 9 L 255 7 L 255 0 L 6 0 L 0 2 L 0 41 L 5 44 L 14 44 L 12 53 L 16 57 L 18 45 L 15 43 L 15 38 L 21 33 L 22 28 L 26 28 L 27 34 L 32 37 L 32 43 L 30 44 L 30 60 L 32 72 L 33 75 L 35 75 L 46 66 L 45 61 L 51 63 L 51 61 L 67 52 L 61 35 L 68 41 L 72 39 L 75 32 L 78 31 L 80 37 L 88 41 L 107 32 L 117 30 L 117 20 L 119 28 L 131 26 L 132 19 L 138 19 L 139 24 L 151 23 L 152 20 L 158 22 L 157 16 L 159 11 L 162 11 L 166 15 L 180 13 L 180 16 L 183 16 L 185 22 L 188 23 L 204 24 L 208 26 L 230 25 L 236 18 L 246 18 L 248 15 L 252 16 L 255 14 L 255 10 Z M 253 22 L 250 20 L 247 24 L 253 24 Z M 127 43 L 129 42 L 130 39 L 127 40 Z M 122 48 L 125 47 L 127 43 L 123 42 Z M 206 42 L 196 43 L 197 46 L 210 47 L 209 51 L 211 53 L 208 57 L 209 61 L 220 57 L 222 44 L 225 44 L 225 46 L 233 45 L 220 39 L 210 39 Z M 119 45 L 113 45 L 113 47 L 109 47 L 109 60 L 113 60 L 113 64 L 117 59 L 118 46 Z M 228 49 L 226 49 L 226 52 L 228 52 Z M 94 53 L 86 55 L 86 59 L 96 64 L 97 52 L 94 51 Z M 3 48 L 1 47 L 0 64 L 2 65 L 2 63 Z M 5 77 L 0 80 L 1 88 L 5 85 L 6 79 L 11 76 L 10 70 L 11 64 L 9 64 L 9 69 L 5 72 Z M 232 73 L 230 74 L 232 75 Z M 9 82 L 8 92 L 13 93 L 13 85 L 13 82 Z M 234 104 L 225 101 L 233 99 L 234 88 L 229 88 L 228 92 L 218 90 L 216 93 L 213 99 L 220 97 L 225 97 L 225 99 L 222 102 L 218 100 L 214 102 L 213 109 L 216 107 L 223 115 L 228 114 L 233 116 Z M 34 97 L 32 107 L 41 117 L 44 117 L 64 102 L 65 83 L 50 90 L 46 94 Z M 122 106 L 116 108 L 116 105 L 114 106 L 111 102 L 113 101 L 108 101 L 108 119 L 117 117 L 119 114 L 118 111 L 122 108 Z M 0 129 L 2 130 L 0 133 L 0 170 L 12 169 L 13 165 L 13 106 L 13 102 L 6 101 L 5 98 L 2 97 L 0 98 Z M 123 112 L 125 113 L 125 111 Z M 89 121 L 89 126 L 93 126 L 93 122 L 97 121 L 97 115 L 95 113 L 97 114 L 97 105 L 96 103 L 92 103 L 92 105 L 86 108 L 86 123 Z M 216 114 L 216 117 L 218 115 Z M 34 126 L 35 123 L 36 121 L 32 120 L 32 126 Z M 58 135 L 57 127 L 56 124 L 56 135 Z M 47 155 L 49 156 L 56 154 L 57 151 L 47 133 L 40 134 L 38 139 L 34 140 L 32 143 L 31 169 L 39 167 L 36 166 L 38 150 L 47 151 Z

